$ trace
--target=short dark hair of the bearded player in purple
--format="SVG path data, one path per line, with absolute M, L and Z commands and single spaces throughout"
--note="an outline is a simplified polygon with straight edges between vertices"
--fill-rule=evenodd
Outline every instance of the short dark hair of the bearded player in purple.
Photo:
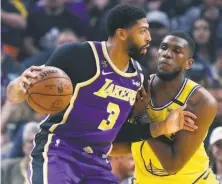
M 143 9 L 130 4 L 113 7 L 107 16 L 106 28 L 109 36 L 113 36 L 118 28 L 129 28 L 140 19 L 146 18 Z

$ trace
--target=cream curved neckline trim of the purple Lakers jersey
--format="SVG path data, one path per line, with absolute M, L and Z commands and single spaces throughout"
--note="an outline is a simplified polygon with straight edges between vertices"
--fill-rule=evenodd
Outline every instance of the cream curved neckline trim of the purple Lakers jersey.
M 118 73 L 119 75 L 123 76 L 123 77 L 135 77 L 137 76 L 137 70 L 134 72 L 134 73 L 125 73 L 125 72 L 122 72 L 121 70 L 119 70 L 112 62 L 112 60 L 110 59 L 109 57 L 109 54 L 108 54 L 108 51 L 106 49 L 106 42 L 102 42 L 102 51 L 103 51 L 103 54 L 105 56 L 105 58 L 107 59 L 107 61 L 109 62 L 110 66 L 112 67 L 112 69 Z M 133 64 L 133 61 L 131 59 L 131 62 Z M 134 64 L 133 64 L 134 66 Z

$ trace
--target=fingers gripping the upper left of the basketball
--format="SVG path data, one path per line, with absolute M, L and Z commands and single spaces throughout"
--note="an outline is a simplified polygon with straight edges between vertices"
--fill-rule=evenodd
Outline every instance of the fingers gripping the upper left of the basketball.
M 32 82 L 30 79 L 34 79 L 37 77 L 37 72 L 41 71 L 45 65 L 41 66 L 31 66 L 27 68 L 19 77 L 19 88 L 21 91 L 26 93 L 26 87 L 32 85 Z

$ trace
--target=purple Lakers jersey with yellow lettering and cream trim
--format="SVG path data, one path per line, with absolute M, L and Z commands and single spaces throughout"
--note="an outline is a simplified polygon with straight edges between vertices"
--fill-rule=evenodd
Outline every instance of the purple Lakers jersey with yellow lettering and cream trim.
M 117 69 L 109 58 L 105 42 L 88 42 L 94 53 L 97 72 L 78 83 L 63 119 L 49 131 L 80 142 L 110 144 L 127 120 L 144 76 L 131 59 L 134 73 Z M 86 53 L 87 54 L 87 53 Z

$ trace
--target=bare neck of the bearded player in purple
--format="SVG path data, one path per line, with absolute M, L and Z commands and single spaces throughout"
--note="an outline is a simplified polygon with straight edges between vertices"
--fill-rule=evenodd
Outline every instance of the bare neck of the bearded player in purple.
M 120 44 L 114 38 L 109 38 L 107 41 L 107 51 L 113 64 L 119 70 L 125 72 L 128 69 L 130 57 L 123 44 Z

